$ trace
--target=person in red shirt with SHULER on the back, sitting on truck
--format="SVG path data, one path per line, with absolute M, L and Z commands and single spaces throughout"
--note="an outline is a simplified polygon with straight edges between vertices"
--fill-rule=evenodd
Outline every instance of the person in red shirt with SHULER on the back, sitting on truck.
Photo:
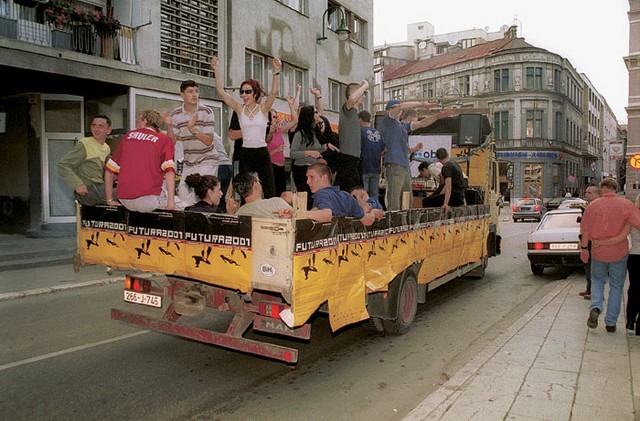
M 174 145 L 170 137 L 160 132 L 162 122 L 157 111 L 142 111 L 136 129 L 124 135 L 105 166 L 107 204 L 119 205 L 113 200 L 113 180 L 117 174 L 118 200 L 127 209 L 152 212 L 176 208 Z

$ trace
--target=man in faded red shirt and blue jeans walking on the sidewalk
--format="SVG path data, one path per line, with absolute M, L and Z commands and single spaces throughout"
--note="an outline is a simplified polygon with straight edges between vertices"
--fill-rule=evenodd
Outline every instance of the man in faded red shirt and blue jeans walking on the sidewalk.
M 599 245 L 599 243 L 616 237 L 627 223 L 640 229 L 640 209 L 630 200 L 618 196 L 617 190 L 618 183 L 615 180 L 611 178 L 602 180 L 601 196 L 587 206 L 580 223 L 582 248 L 580 258 L 584 263 L 589 261 L 589 241 L 592 242 L 591 305 L 587 326 L 591 329 L 598 327 L 598 317 L 603 308 L 604 285 L 608 278 L 609 298 L 607 314 L 604 318 L 607 332 L 616 331 L 622 290 L 627 276 L 629 242 L 626 237 L 621 237 L 620 241 L 613 244 Z

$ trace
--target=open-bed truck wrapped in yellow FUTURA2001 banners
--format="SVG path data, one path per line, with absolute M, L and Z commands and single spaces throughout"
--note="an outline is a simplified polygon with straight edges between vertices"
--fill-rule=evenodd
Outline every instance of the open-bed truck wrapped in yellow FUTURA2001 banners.
M 141 328 L 296 363 L 298 350 L 245 337 L 254 331 L 310 339 L 311 317 L 332 330 L 370 320 L 409 330 L 427 291 L 481 277 L 500 252 L 497 161 L 491 147 L 452 147 L 469 158 L 483 203 L 386 212 L 370 227 L 311 219 L 157 210 L 78 208 L 78 264 L 127 270 L 123 308 L 111 317 Z M 130 271 L 130 272 L 129 272 Z M 230 314 L 225 331 L 196 323 Z

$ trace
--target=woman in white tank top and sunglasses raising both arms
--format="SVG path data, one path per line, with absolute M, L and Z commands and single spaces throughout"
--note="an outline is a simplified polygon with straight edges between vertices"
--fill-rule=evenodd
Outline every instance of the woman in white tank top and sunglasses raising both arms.
M 255 79 L 247 79 L 240 84 L 240 98 L 242 102 L 236 101 L 224 90 L 223 76 L 219 70 L 218 57 L 211 59 L 214 77 L 216 79 L 216 90 L 220 97 L 237 114 L 242 130 L 242 148 L 240 149 L 240 171 L 250 171 L 258 174 L 264 197 L 266 199 L 275 196 L 275 182 L 273 178 L 273 167 L 271 157 L 267 150 L 267 125 L 269 124 L 268 114 L 273 106 L 276 94 L 280 89 L 280 68 L 282 62 L 274 57 L 273 59 L 273 80 L 269 95 L 264 97 L 264 91 L 260 82 Z M 263 98 L 264 97 L 264 98 Z

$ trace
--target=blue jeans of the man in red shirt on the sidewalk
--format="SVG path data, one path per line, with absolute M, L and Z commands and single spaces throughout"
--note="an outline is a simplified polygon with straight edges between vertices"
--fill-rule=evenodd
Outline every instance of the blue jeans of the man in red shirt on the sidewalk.
M 591 306 L 589 309 L 603 309 L 604 285 L 609 279 L 609 298 L 607 301 L 607 314 L 604 323 L 607 326 L 615 326 L 620 314 L 622 302 L 622 290 L 624 280 L 627 277 L 627 259 L 624 256 L 617 262 L 601 262 L 591 257 Z

